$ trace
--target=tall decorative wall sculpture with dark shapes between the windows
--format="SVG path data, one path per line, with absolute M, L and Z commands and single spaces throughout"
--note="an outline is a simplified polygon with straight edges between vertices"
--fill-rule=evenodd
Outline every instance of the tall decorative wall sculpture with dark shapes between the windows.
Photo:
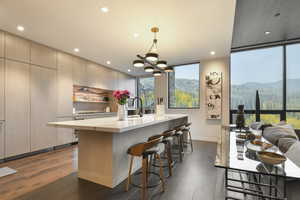
M 207 119 L 221 119 L 222 73 L 210 72 L 205 77 Z

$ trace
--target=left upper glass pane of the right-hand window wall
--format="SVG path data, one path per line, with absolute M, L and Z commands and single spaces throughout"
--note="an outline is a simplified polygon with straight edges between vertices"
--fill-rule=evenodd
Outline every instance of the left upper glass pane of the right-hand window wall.
M 255 109 L 259 91 L 262 110 L 282 109 L 282 47 L 231 54 L 231 109 Z

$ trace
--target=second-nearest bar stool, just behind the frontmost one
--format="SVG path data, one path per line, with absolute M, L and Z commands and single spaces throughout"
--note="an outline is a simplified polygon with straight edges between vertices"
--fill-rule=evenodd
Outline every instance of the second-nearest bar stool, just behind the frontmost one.
M 159 138 L 161 136 L 163 136 L 163 140 L 162 143 L 165 146 L 165 151 L 163 153 L 165 153 L 166 157 L 161 157 L 162 159 L 167 159 L 168 161 L 168 165 L 163 165 L 162 167 L 168 167 L 169 170 L 169 176 L 172 176 L 172 167 L 173 167 L 173 158 L 172 158 L 172 141 L 173 141 L 173 136 L 175 134 L 175 130 L 167 130 L 165 132 L 163 132 L 161 135 L 154 135 L 149 137 L 148 141 L 151 141 L 153 139 Z M 154 163 L 153 162 L 153 158 L 152 156 L 150 157 L 150 166 L 154 166 L 154 167 L 159 167 L 158 165 L 156 165 L 156 159 L 154 159 Z

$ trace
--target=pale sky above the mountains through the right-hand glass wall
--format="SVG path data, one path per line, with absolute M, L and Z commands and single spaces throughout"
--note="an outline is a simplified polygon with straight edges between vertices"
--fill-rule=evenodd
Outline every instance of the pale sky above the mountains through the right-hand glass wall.
M 283 47 L 231 54 L 231 83 L 269 83 L 282 80 Z M 300 44 L 287 46 L 288 78 L 300 78 Z

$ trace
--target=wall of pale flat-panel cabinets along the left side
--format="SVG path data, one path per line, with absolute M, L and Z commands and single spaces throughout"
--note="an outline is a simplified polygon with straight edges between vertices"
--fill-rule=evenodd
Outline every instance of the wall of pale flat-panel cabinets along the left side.
M 47 126 L 73 120 L 73 85 L 135 95 L 131 76 L 0 30 L 0 159 L 77 141 Z

